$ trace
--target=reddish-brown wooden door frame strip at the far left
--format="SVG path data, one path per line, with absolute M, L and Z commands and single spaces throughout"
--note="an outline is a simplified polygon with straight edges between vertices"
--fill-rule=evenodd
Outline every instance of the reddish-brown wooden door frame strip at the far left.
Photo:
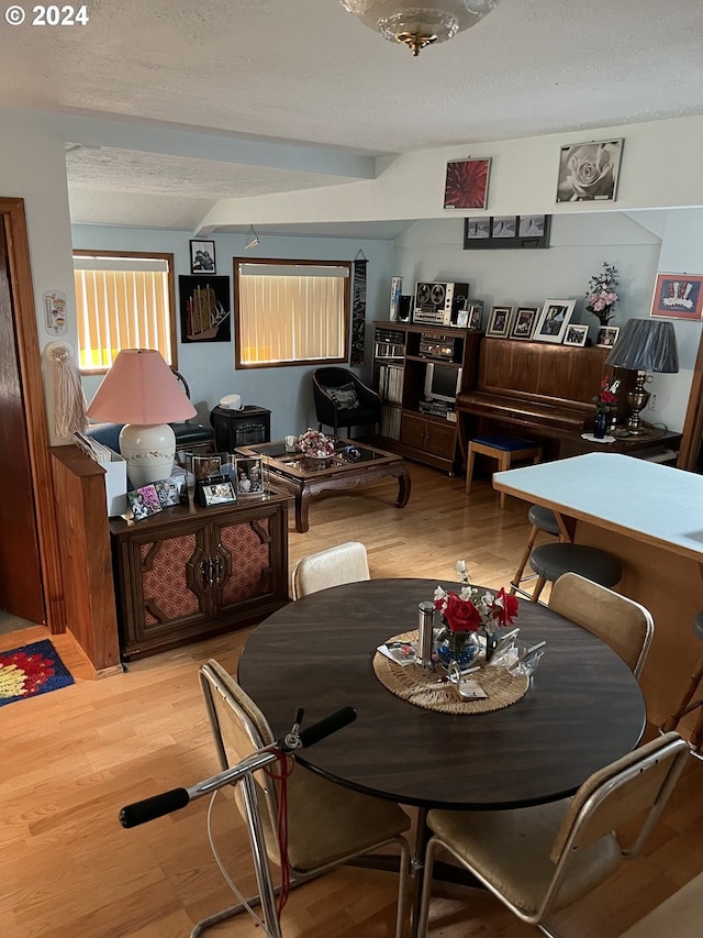
M 35 496 L 44 609 L 46 625 L 51 632 L 56 633 L 66 631 L 66 614 L 24 199 L 0 196 L 0 219 L 8 245 L 18 365 Z

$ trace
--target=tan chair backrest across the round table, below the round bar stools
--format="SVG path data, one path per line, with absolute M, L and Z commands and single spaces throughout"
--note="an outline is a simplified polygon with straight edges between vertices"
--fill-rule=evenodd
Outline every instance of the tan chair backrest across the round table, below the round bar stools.
M 577 573 L 563 573 L 551 587 L 549 608 L 596 634 L 639 677 L 655 631 L 644 606 Z

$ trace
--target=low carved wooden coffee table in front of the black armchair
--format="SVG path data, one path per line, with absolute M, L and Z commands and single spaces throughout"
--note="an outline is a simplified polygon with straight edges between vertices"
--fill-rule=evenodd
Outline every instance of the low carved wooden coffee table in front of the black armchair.
M 269 482 L 294 496 L 295 530 L 301 534 L 310 528 L 310 499 L 321 492 L 356 488 L 391 476 L 398 479 L 395 507 L 404 508 L 410 498 L 410 472 L 402 456 L 342 437 L 335 441 L 334 455 L 326 460 L 308 459 L 298 449 L 288 452 L 282 440 L 238 446 L 237 452 L 244 456 L 264 456 Z

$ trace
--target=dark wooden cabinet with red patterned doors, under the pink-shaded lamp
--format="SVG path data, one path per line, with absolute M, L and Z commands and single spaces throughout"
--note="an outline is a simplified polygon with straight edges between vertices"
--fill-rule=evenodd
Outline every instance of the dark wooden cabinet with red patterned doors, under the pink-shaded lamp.
M 122 658 L 259 621 L 288 602 L 288 496 L 110 521 Z

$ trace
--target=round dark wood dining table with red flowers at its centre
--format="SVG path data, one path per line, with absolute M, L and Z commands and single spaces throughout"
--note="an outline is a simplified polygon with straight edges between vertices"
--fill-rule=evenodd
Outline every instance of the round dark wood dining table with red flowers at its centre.
M 521 807 L 573 794 L 596 769 L 633 750 L 645 702 L 627 665 L 603 641 L 547 607 L 520 600 L 520 641 L 546 640 L 517 703 L 453 715 L 402 700 L 377 678 L 376 648 L 417 628 L 434 580 L 371 580 L 313 593 L 274 613 L 239 658 L 238 681 L 274 733 L 345 706 L 357 719 L 300 750 L 325 777 L 422 808 Z M 457 583 L 442 582 L 458 592 Z M 409 665 L 414 667 L 415 665 Z

